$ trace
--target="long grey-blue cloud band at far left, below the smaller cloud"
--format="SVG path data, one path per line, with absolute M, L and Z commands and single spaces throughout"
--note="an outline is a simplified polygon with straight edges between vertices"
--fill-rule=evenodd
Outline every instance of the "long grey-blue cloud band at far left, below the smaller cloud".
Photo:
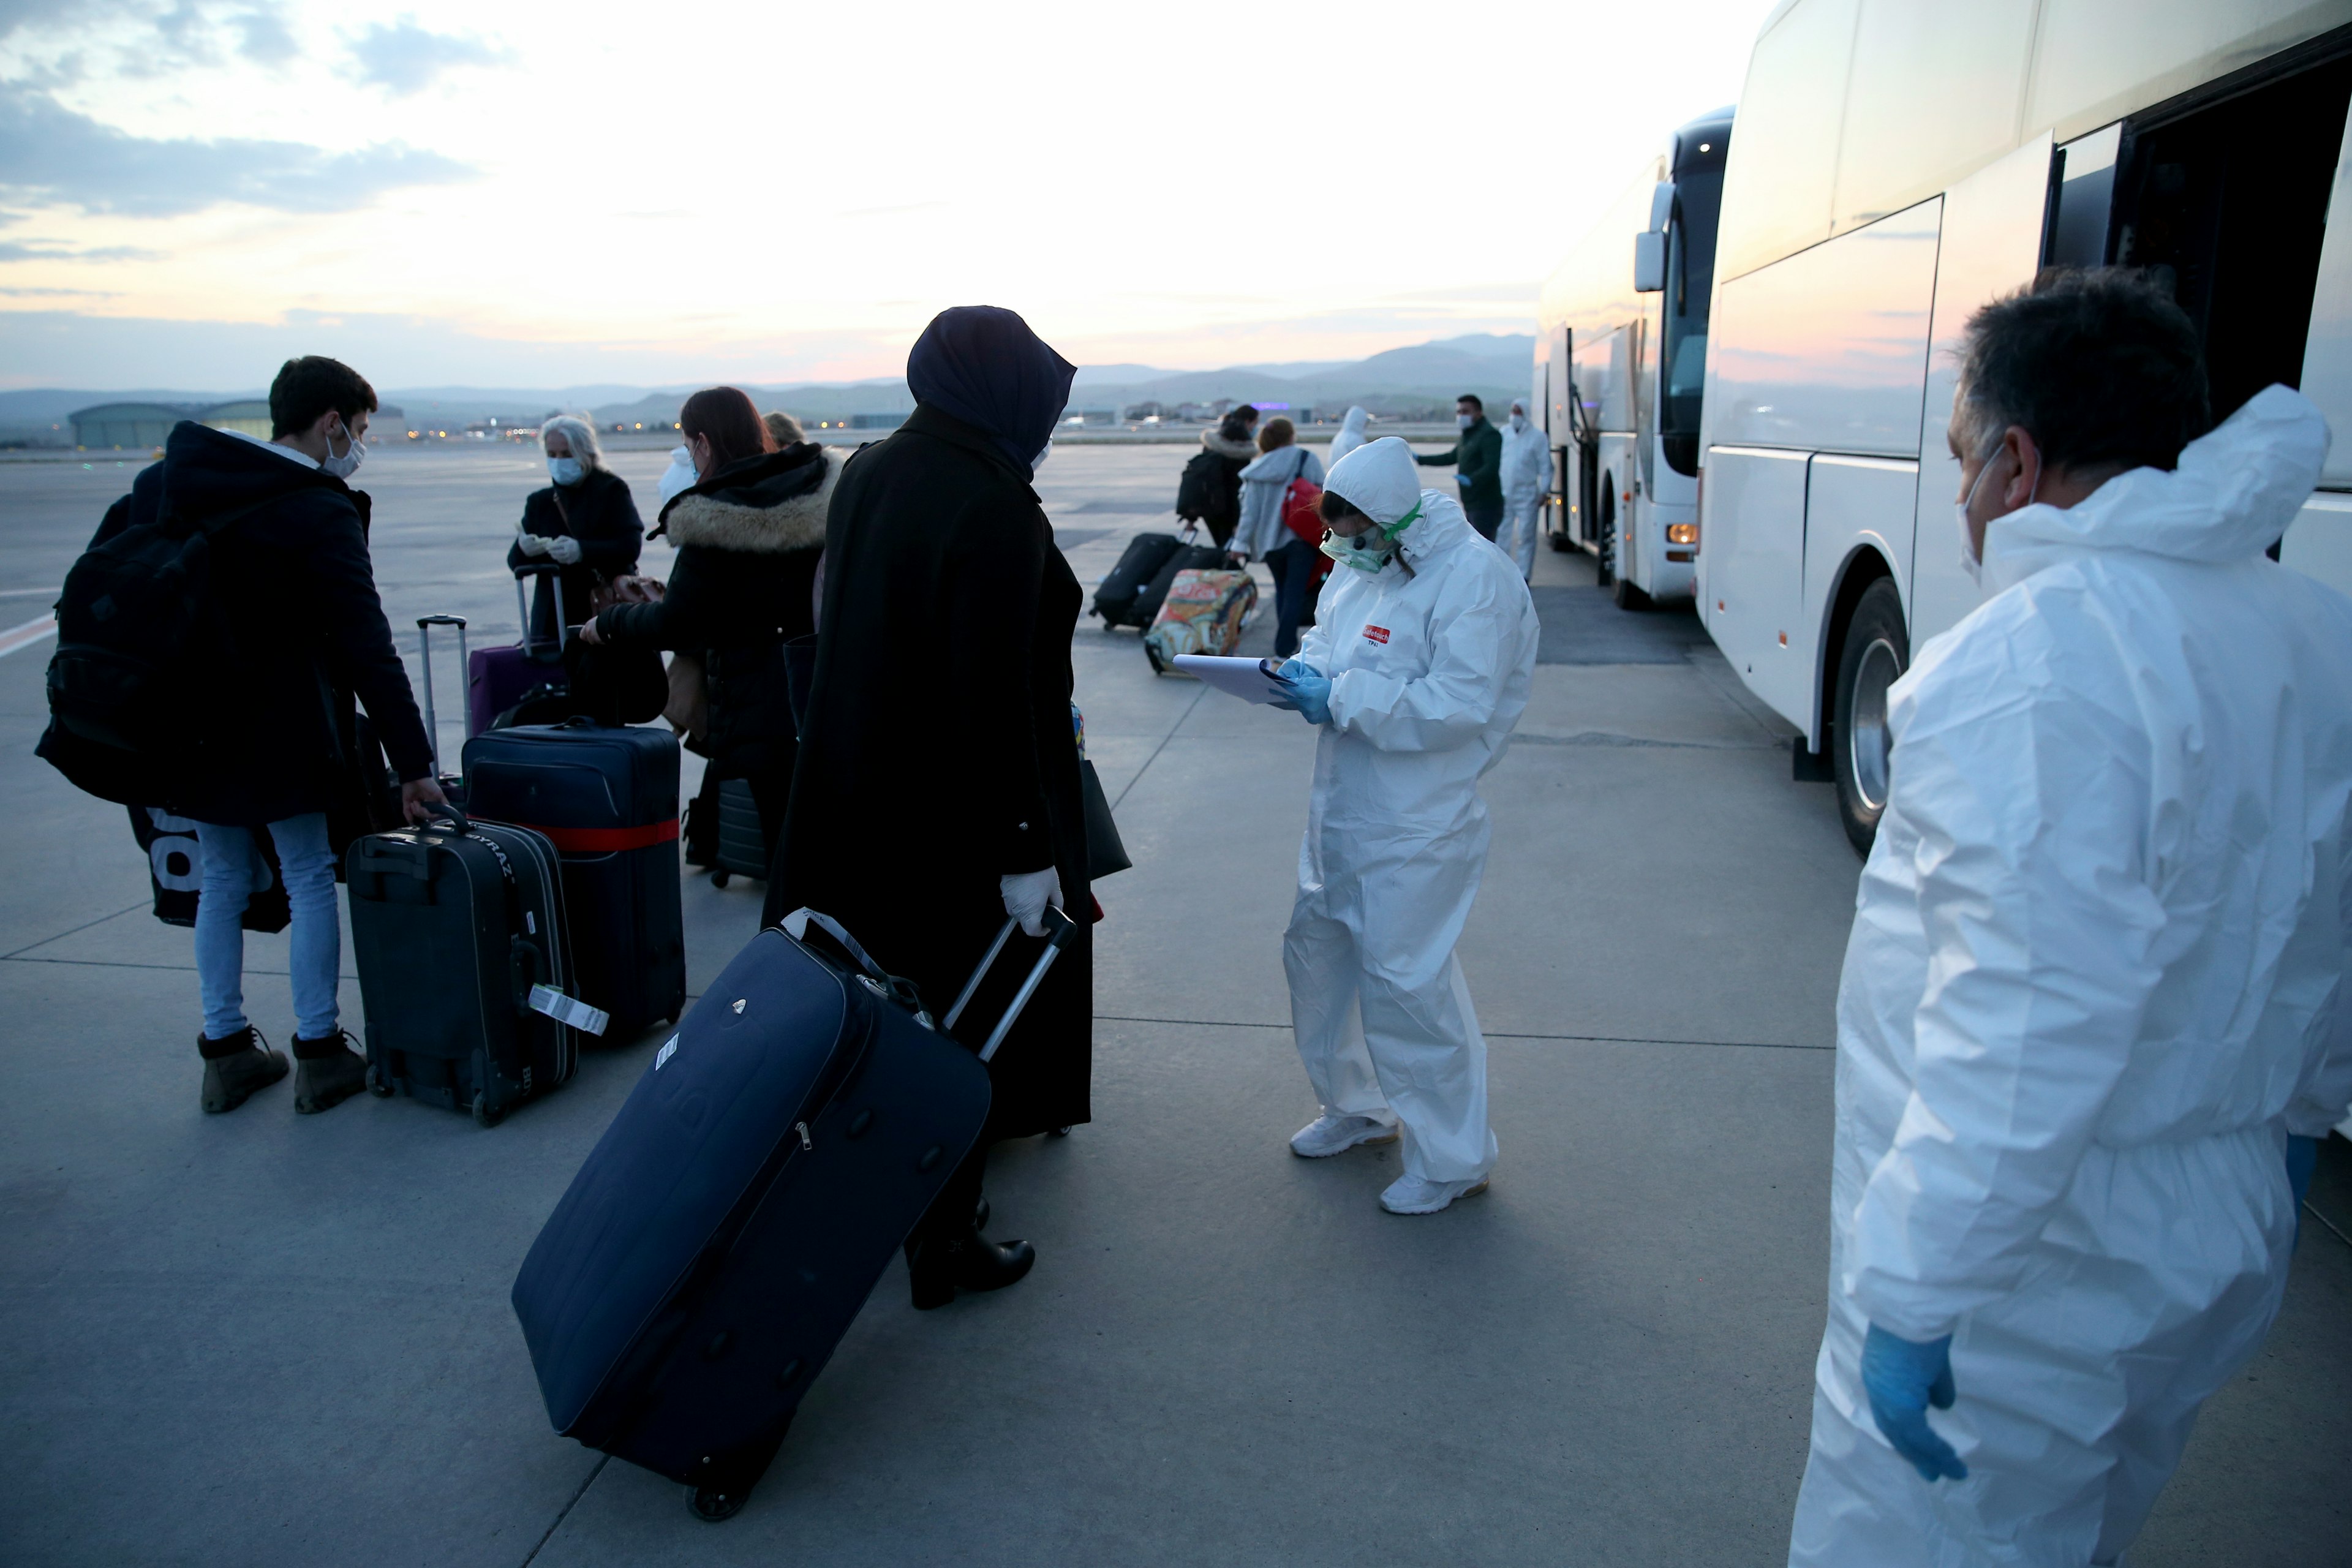
M 0 197 L 167 219 L 242 202 L 350 212 L 386 190 L 447 186 L 473 169 L 402 143 L 327 153 L 301 141 L 148 139 L 99 125 L 45 92 L 0 82 Z

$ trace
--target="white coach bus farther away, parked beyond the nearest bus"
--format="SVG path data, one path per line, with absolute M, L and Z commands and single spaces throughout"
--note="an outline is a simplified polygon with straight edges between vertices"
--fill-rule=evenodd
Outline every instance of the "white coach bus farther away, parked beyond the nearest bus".
M 1625 609 L 1696 592 L 1698 400 L 1729 148 L 1729 108 L 1684 125 L 1543 287 L 1529 404 L 1552 447 L 1543 531 L 1555 550 L 1590 550 Z

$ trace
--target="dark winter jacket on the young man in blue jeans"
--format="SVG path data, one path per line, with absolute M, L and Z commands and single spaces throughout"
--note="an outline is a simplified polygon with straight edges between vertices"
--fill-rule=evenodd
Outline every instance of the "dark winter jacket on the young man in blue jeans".
M 402 783 L 433 771 L 367 559 L 367 494 L 301 454 L 179 423 L 89 541 L 160 508 L 207 517 L 266 501 L 212 541 L 226 661 L 205 670 L 200 736 L 155 802 L 200 823 L 259 825 L 327 811 L 353 790 L 353 696 Z

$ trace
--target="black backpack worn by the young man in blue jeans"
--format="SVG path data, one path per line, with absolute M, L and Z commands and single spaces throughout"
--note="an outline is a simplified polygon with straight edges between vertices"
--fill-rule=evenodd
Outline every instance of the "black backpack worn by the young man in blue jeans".
M 103 778 L 151 771 L 193 743 L 202 682 L 226 665 L 228 628 L 212 595 L 212 538 L 278 496 L 200 522 L 169 508 L 82 552 L 56 599 L 49 658 L 52 733 Z M 49 755 L 47 750 L 42 755 Z M 66 766 L 73 783 L 96 795 Z

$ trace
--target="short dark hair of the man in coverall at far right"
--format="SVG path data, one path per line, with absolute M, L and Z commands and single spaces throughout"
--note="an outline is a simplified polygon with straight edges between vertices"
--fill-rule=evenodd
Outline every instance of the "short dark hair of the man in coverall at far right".
M 2020 425 L 2051 468 L 2171 468 L 2213 428 L 2197 329 L 2129 268 L 2051 268 L 1971 315 L 1959 388 L 1964 456 Z

